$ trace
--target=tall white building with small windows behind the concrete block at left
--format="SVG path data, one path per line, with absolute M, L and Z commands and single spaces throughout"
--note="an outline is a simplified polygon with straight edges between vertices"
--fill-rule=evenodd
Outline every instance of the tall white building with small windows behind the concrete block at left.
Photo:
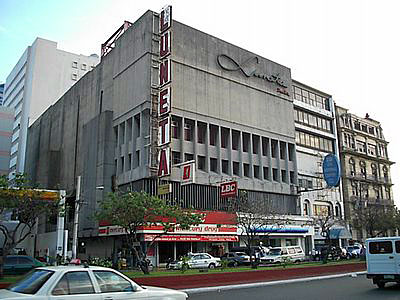
M 24 172 L 27 130 L 85 73 L 99 62 L 96 54 L 74 54 L 57 49 L 57 43 L 36 38 L 22 54 L 4 89 L 3 105 L 14 108 L 10 175 Z

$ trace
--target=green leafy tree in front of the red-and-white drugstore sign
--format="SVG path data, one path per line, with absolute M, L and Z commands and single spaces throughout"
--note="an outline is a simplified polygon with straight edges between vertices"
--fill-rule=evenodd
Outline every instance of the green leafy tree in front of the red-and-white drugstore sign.
M 189 229 L 190 226 L 202 222 L 203 215 L 194 213 L 190 209 L 182 209 L 178 205 L 170 205 L 158 197 L 145 192 L 114 192 L 100 203 L 96 213 L 97 220 L 107 220 L 113 225 L 125 230 L 128 245 L 133 251 L 143 273 L 148 274 L 146 252 L 141 247 L 133 247 L 140 242 L 138 230 L 144 226 L 157 225 L 161 228 L 157 237 L 171 232 L 174 228 Z

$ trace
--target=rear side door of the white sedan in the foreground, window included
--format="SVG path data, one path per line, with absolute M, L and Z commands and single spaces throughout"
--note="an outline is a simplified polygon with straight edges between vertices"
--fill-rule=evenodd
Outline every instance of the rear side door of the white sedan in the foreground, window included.
M 51 291 L 49 299 L 64 299 L 62 296 L 71 300 L 103 300 L 100 293 L 96 294 L 88 271 L 65 273 Z

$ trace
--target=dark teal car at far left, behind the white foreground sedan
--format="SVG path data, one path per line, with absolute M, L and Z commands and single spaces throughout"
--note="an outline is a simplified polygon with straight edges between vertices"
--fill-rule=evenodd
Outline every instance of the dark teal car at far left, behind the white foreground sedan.
M 8 275 L 25 274 L 30 270 L 45 266 L 44 263 L 27 255 L 8 255 L 4 259 L 3 272 Z

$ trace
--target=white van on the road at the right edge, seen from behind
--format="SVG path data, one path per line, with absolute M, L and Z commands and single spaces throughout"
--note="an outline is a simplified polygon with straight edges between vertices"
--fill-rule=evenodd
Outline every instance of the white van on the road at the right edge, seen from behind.
M 400 237 L 366 240 L 367 278 L 379 288 L 386 282 L 400 283 Z

